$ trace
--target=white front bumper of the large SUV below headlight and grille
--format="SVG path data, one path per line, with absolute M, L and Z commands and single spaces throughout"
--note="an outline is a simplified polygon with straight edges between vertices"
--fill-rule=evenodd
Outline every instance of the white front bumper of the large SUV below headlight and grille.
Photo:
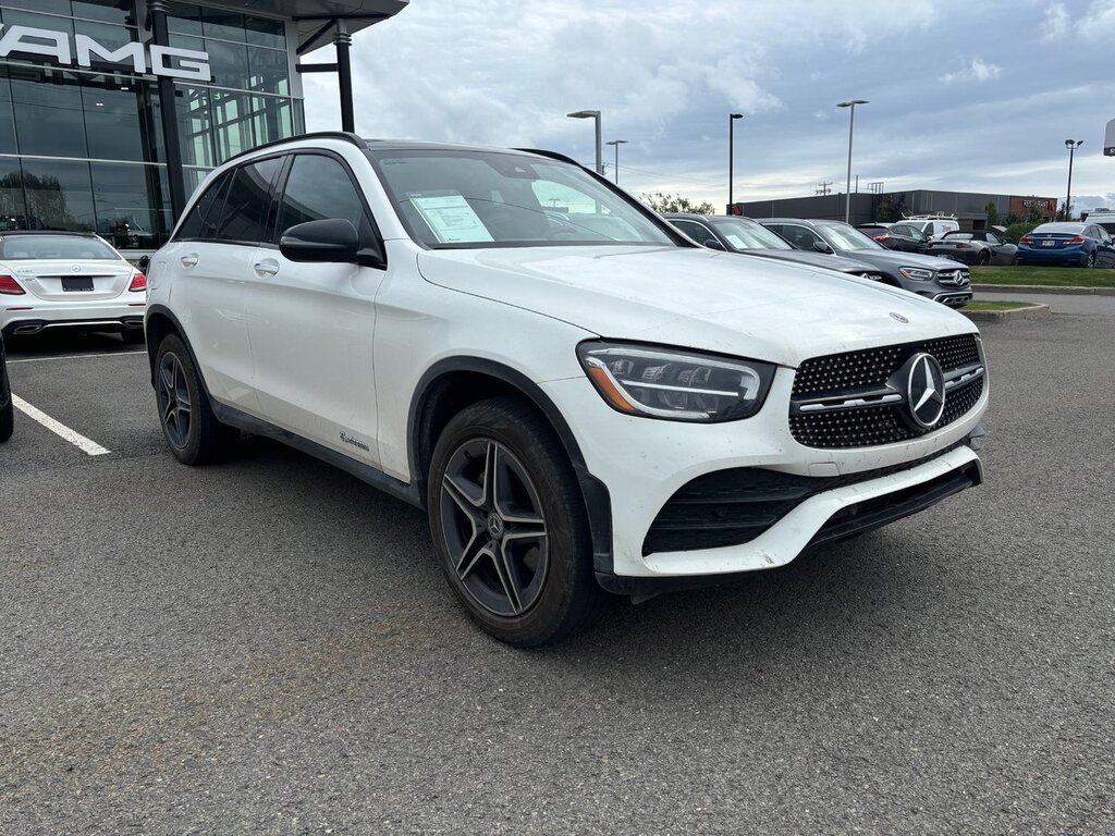
M 589 470 L 603 483 L 610 496 L 611 560 L 602 562 L 598 556 L 595 565 L 605 587 L 621 591 L 633 584 L 612 577 L 669 584 L 682 579 L 691 581 L 780 566 L 815 541 L 830 538 L 825 526 L 841 512 L 849 513 L 851 519 L 853 514 L 849 509 L 859 506 L 864 513 L 874 514 L 871 519 L 875 522 L 866 527 L 875 527 L 927 507 L 918 504 L 920 487 L 928 495 L 940 487 L 938 483 L 948 483 L 963 474 L 967 484 L 957 489 L 982 480 L 979 457 L 963 441 L 980 434 L 979 419 L 987 407 L 989 387 L 985 386 L 971 410 L 934 432 L 900 444 L 817 449 L 798 444 L 791 435 L 786 405 L 793 378 L 793 370 L 778 370 L 767 401 L 755 417 L 711 425 L 621 415 L 605 406 L 584 378 L 543 385 L 569 420 Z M 889 473 L 816 493 L 759 536 L 739 545 L 643 553 L 660 511 L 682 486 L 706 474 L 733 468 L 764 468 L 817 477 L 818 482 L 883 468 L 889 468 Z M 943 493 L 932 502 L 949 493 L 954 492 Z M 913 504 L 892 503 L 888 507 L 883 502 L 871 508 L 864 505 L 896 495 L 905 495 Z M 857 522 L 870 521 L 864 516 Z M 859 529 L 845 525 L 832 536 L 847 536 Z

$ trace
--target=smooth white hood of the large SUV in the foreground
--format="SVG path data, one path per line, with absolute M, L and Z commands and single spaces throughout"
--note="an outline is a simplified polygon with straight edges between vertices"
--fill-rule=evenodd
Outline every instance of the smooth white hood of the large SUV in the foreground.
M 600 337 L 783 366 L 976 330 L 942 304 L 867 279 L 704 249 L 430 250 L 418 253 L 418 270 Z

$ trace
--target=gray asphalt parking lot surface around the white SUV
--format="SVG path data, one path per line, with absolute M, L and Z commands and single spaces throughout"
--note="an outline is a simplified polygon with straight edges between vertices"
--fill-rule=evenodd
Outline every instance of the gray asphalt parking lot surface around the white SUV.
M 0 446 L 0 833 L 1115 833 L 1115 317 L 983 332 L 983 487 L 541 652 L 419 512 L 183 467 L 134 347 L 11 343 L 107 453 Z

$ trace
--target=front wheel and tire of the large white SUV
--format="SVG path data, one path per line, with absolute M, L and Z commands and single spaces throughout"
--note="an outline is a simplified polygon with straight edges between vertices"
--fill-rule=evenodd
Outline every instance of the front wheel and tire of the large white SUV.
M 442 571 L 491 635 L 517 648 L 586 626 L 604 592 L 573 467 L 542 416 L 514 398 L 454 416 L 426 490 Z

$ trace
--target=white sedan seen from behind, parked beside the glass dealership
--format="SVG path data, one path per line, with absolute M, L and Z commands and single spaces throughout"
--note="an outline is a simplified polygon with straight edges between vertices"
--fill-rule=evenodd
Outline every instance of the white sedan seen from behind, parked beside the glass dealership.
M 93 233 L 0 232 L 0 331 L 117 331 L 143 341 L 147 276 Z

